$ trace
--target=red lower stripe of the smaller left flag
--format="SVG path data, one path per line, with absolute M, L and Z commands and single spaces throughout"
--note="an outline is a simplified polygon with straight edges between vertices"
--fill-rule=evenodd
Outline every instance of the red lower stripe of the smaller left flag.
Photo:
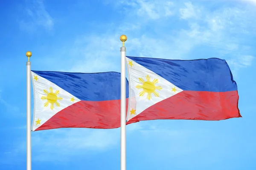
M 36 130 L 63 127 L 117 128 L 120 127 L 120 102 L 120 100 L 79 101 L 56 113 Z M 127 106 L 128 98 L 126 110 Z

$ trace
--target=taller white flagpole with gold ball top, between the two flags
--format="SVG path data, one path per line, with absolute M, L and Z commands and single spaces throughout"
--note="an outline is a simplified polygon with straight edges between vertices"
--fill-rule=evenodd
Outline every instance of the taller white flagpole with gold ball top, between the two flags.
M 123 46 L 120 48 L 121 52 L 121 170 L 126 169 L 126 139 L 125 139 L 125 126 L 126 126 L 126 78 L 125 78 L 125 35 L 120 36 Z

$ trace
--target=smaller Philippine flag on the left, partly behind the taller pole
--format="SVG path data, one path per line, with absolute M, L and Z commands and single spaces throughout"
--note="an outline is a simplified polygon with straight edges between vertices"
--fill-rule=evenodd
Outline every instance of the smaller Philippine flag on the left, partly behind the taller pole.
M 32 130 L 120 127 L 120 73 L 31 71 Z M 128 101 L 128 81 L 126 81 Z

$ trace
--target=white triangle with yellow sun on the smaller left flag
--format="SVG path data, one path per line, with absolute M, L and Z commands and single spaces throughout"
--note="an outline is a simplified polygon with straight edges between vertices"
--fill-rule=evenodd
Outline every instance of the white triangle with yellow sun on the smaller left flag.
M 53 115 L 55 115 L 62 109 L 76 102 L 79 102 L 80 100 L 69 92 L 65 91 L 64 89 L 61 89 L 56 84 L 35 74 L 34 72 L 31 72 L 31 75 L 34 89 L 34 120 L 32 127 L 32 131 L 34 131 L 42 124 L 44 124 L 47 120 L 49 120 Z M 52 88 L 53 93 L 49 94 L 47 97 L 46 93 L 50 93 L 50 88 Z M 56 90 L 59 91 L 57 95 Z M 56 98 L 56 96 L 58 98 Z M 74 101 L 71 98 L 73 98 Z M 49 103 L 48 106 L 45 106 L 47 101 L 50 101 L 51 103 L 57 101 L 59 103 L 59 106 L 57 106 L 58 103 Z M 51 105 L 53 106 L 52 109 Z

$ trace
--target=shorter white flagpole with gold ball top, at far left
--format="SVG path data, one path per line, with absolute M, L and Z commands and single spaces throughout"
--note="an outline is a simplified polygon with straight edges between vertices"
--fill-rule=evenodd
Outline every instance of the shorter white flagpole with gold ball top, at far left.
M 31 63 L 29 58 L 32 52 L 26 52 L 28 61 L 26 62 L 27 73 L 27 170 L 31 170 Z

